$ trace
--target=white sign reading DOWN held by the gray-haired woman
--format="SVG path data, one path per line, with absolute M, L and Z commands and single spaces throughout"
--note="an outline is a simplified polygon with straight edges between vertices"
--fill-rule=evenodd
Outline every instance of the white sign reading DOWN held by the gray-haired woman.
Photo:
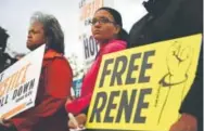
M 44 47 L 0 74 L 0 119 L 9 119 L 35 106 Z

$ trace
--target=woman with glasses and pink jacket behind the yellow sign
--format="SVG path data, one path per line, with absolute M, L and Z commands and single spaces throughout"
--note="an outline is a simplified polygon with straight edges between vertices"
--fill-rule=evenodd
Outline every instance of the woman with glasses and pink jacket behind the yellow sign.
M 122 16 L 116 10 L 111 8 L 99 9 L 94 13 L 91 24 L 92 36 L 98 41 L 100 50 L 91 68 L 84 78 L 81 96 L 74 101 L 67 100 L 66 102 L 67 113 L 74 115 L 82 113 L 90 104 L 102 56 L 125 50 L 127 47 L 128 34 L 123 29 Z M 82 118 L 80 117 L 81 120 Z M 85 122 L 85 120 L 81 122 Z M 72 127 L 72 123 L 69 127 Z

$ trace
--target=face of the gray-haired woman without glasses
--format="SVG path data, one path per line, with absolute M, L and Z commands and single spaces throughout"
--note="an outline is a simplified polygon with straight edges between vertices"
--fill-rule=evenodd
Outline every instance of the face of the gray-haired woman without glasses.
M 43 26 L 39 22 L 34 22 L 28 30 L 27 48 L 35 50 L 46 42 Z

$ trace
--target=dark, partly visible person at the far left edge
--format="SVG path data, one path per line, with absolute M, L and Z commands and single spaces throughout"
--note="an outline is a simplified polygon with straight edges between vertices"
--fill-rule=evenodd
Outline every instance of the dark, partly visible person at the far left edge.
M 7 30 L 0 27 L 0 73 L 16 62 L 15 58 L 5 53 L 8 38 Z

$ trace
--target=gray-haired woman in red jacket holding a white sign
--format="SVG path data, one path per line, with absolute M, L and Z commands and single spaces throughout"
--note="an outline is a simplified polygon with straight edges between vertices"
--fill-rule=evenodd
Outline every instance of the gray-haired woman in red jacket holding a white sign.
M 64 108 L 71 95 L 72 68 L 64 57 L 64 34 L 58 19 L 36 12 L 30 19 L 27 48 L 46 44 L 35 107 L 5 120 L 1 131 L 67 131 Z

